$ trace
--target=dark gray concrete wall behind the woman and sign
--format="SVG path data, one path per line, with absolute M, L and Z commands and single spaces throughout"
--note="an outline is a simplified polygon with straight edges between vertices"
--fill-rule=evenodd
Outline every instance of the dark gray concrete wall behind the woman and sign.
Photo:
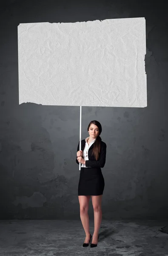
M 103 218 L 168 216 L 168 23 L 154 1 L 4 1 L 0 39 L 0 219 L 80 218 L 80 107 L 18 104 L 17 26 L 145 17 L 148 107 L 82 108 L 107 144 Z M 71 2 L 71 3 L 70 3 Z M 147 2 L 147 3 L 146 3 Z M 93 209 L 90 201 L 90 217 Z

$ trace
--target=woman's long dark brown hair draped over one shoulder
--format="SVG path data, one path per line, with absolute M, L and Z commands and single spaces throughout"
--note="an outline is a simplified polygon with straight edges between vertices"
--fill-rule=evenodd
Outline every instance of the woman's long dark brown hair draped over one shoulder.
M 91 124 L 97 125 L 97 127 L 99 128 L 99 135 L 97 136 L 97 138 L 94 142 L 94 148 L 93 148 L 93 151 L 91 154 L 91 155 L 94 154 L 95 159 L 98 160 L 99 154 L 100 154 L 100 145 L 101 145 L 101 141 L 102 141 L 102 139 L 100 137 L 100 134 L 102 132 L 102 125 L 100 124 L 100 122 L 93 120 L 89 123 L 88 130 L 89 130 L 89 127 L 91 126 Z

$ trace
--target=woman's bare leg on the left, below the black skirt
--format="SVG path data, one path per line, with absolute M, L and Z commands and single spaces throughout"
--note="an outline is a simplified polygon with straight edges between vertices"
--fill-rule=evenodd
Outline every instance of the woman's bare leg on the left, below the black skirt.
M 83 228 L 85 230 L 85 241 L 84 243 L 88 243 L 90 240 L 90 231 L 89 231 L 89 217 L 88 217 L 88 204 L 90 195 L 79 195 L 80 202 L 80 219 L 83 224 Z

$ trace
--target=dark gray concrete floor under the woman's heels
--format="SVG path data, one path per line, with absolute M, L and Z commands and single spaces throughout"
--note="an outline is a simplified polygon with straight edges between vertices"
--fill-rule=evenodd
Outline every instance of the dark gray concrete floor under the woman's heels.
M 168 256 L 168 234 L 159 231 L 167 222 L 102 220 L 98 245 L 91 248 L 82 246 L 79 220 L 1 220 L 0 256 Z

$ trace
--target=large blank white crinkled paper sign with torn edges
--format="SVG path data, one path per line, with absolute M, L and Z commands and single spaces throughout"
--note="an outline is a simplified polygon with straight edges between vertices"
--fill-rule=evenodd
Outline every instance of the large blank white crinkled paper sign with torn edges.
M 19 104 L 146 107 L 145 18 L 18 26 Z

